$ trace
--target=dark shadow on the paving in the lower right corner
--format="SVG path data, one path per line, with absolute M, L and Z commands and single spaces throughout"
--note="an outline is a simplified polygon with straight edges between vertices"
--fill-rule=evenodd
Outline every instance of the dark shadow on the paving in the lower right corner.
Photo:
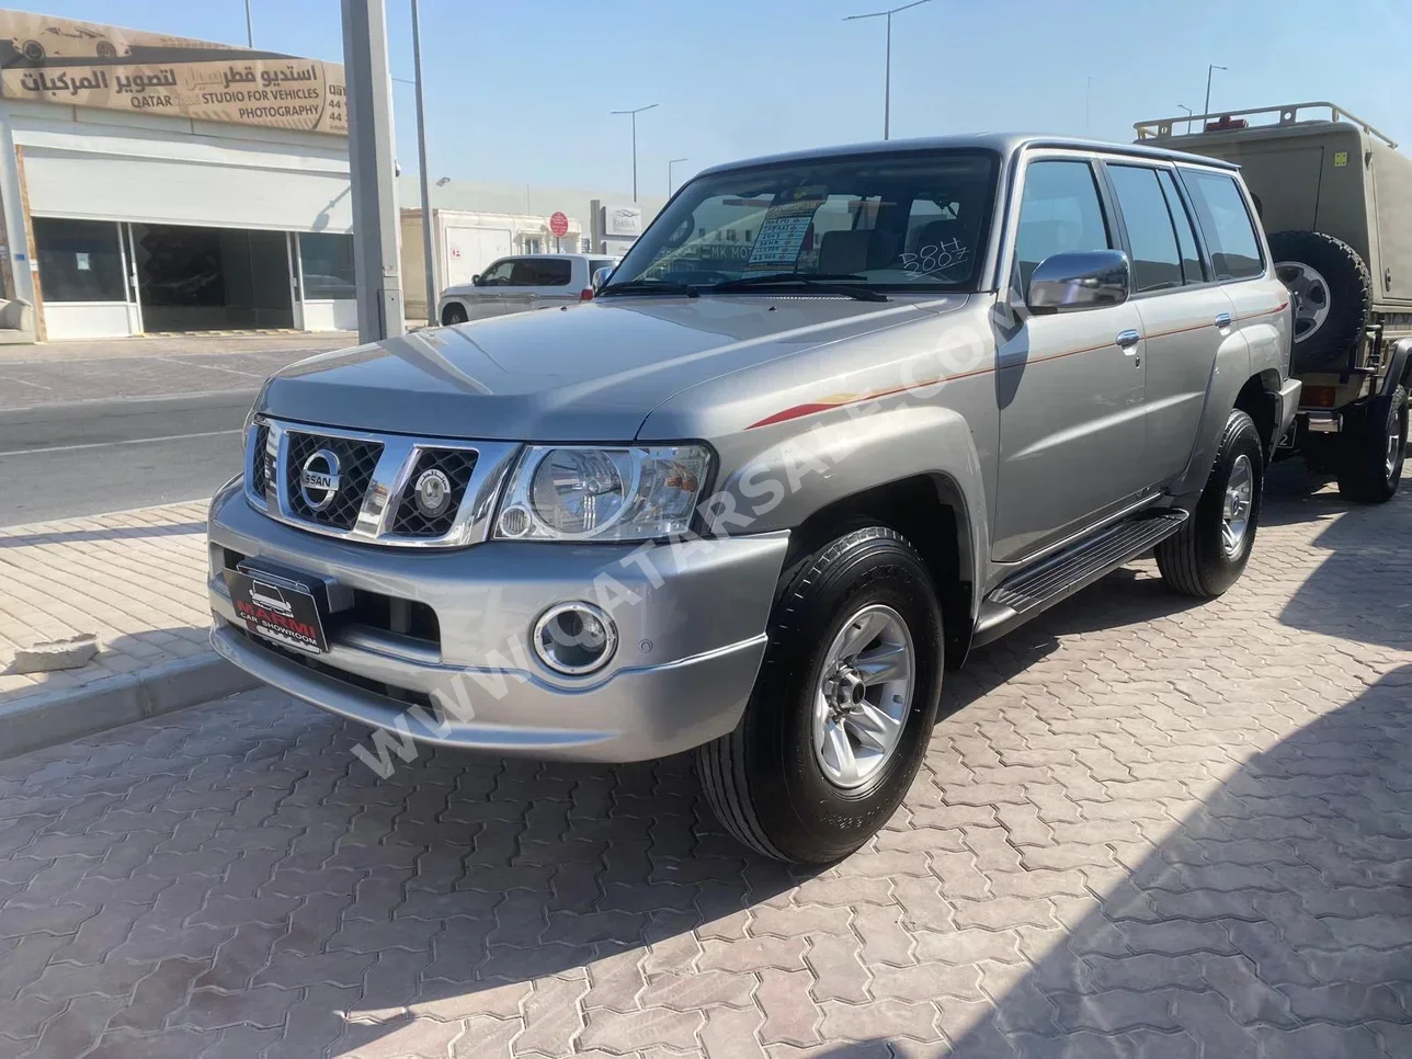
M 950 1055 L 1408 1055 L 1409 690 L 1412 665 L 1247 760 Z

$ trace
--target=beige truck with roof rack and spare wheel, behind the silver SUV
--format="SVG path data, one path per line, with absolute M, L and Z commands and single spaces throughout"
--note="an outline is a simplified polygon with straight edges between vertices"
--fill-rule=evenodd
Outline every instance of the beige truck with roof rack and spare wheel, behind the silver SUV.
M 1295 319 L 1299 415 L 1279 455 L 1350 500 L 1392 498 L 1412 383 L 1412 158 L 1333 103 L 1134 126 L 1139 143 L 1237 162 Z M 1211 277 L 1220 280 L 1221 277 Z

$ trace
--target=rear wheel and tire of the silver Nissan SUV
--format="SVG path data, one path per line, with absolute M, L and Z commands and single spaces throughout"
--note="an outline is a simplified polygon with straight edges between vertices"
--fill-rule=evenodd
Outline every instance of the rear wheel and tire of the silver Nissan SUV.
M 1156 546 L 1168 587 L 1213 599 L 1234 585 L 1250 562 L 1265 491 L 1265 452 L 1254 421 L 1238 408 L 1221 432 L 1216 463 L 1196 511 Z

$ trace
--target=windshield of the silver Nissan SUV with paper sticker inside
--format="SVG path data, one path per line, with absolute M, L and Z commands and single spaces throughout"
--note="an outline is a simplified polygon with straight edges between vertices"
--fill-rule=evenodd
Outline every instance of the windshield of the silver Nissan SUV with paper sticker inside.
M 974 289 L 995 198 L 983 151 L 854 155 L 688 184 L 603 288 L 709 294 L 781 274 L 912 291 Z M 645 281 L 645 282 L 638 282 Z M 744 284 L 740 281 L 746 281 Z M 768 288 L 761 288 L 768 289 Z

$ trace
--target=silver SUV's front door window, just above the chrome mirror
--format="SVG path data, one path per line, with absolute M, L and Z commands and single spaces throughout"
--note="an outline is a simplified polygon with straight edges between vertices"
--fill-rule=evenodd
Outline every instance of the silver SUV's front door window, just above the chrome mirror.
M 1103 219 L 1093 167 L 1060 160 L 1031 162 L 1025 169 L 1019 233 L 1015 237 L 1021 294 L 1029 292 L 1029 277 L 1046 257 L 1111 249 L 1113 239 Z

